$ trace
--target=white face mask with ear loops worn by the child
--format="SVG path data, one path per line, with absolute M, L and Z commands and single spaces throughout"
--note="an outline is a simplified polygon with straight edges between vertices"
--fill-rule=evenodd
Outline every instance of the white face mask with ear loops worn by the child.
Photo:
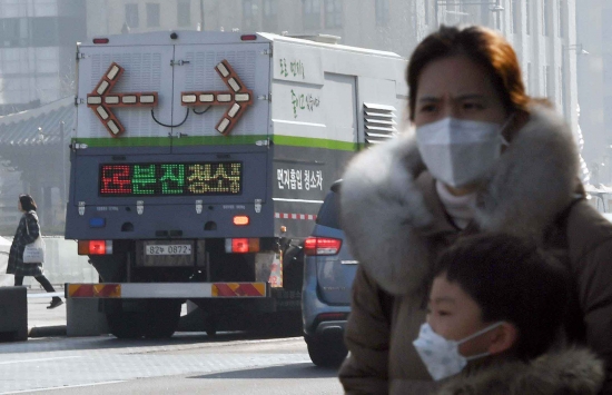
M 458 352 L 458 346 L 467 340 L 471 340 L 482 334 L 487 333 L 491 329 L 496 328 L 502 323 L 495 323 L 486 328 L 476 332 L 458 342 L 448 340 L 440 336 L 432 329 L 430 324 L 425 323 L 421 326 L 418 338 L 413 342 L 416 352 L 421 356 L 421 361 L 427 367 L 427 372 L 432 375 L 433 379 L 441 381 L 443 378 L 454 376 L 467 365 L 468 361 L 477 359 L 490 355 L 490 353 L 483 353 L 478 355 L 472 355 L 464 357 Z

